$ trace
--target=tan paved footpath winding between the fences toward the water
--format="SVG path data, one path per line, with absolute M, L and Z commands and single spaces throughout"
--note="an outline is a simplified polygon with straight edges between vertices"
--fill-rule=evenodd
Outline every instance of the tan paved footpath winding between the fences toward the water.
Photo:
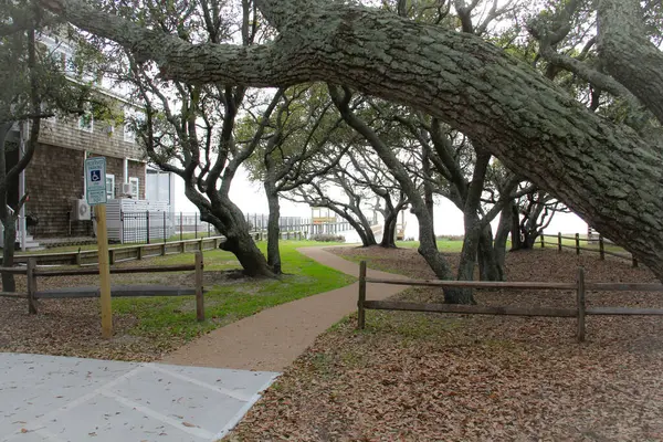
M 359 276 L 358 264 L 326 252 L 323 248 L 305 248 L 298 251 L 323 265 Z M 368 276 L 402 278 L 373 270 L 368 270 Z M 404 288 L 398 285 L 368 284 L 367 298 L 383 299 Z M 180 347 L 164 358 L 162 362 L 282 371 L 304 352 L 319 334 L 357 309 L 358 290 L 358 283 L 355 283 L 265 309 Z

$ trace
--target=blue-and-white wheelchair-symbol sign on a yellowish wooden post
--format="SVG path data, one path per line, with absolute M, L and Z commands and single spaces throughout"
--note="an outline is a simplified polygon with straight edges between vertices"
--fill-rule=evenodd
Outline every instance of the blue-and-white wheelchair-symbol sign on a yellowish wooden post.
M 102 337 L 113 337 L 113 308 L 110 304 L 110 269 L 108 266 L 108 230 L 106 228 L 106 158 L 85 160 L 87 203 L 94 206 L 97 221 L 99 256 L 99 292 L 102 298 Z

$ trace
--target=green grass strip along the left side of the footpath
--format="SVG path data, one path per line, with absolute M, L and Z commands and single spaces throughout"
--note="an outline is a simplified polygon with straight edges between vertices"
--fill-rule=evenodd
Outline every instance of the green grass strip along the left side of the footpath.
M 130 314 L 138 324 L 130 330 L 136 336 L 168 339 L 179 337 L 189 340 L 203 333 L 230 324 L 265 308 L 299 299 L 317 293 L 348 285 L 355 281 L 338 271 L 325 267 L 302 255 L 297 248 L 307 245 L 333 245 L 312 241 L 283 241 L 281 257 L 283 275 L 278 280 L 239 280 L 223 285 L 206 286 L 207 319 L 196 322 L 192 297 L 144 297 L 113 299 L 117 314 Z M 263 250 L 266 243 L 259 246 Z M 150 264 L 180 264 L 192 261 L 192 255 L 180 254 L 154 259 Z M 206 272 L 239 269 L 234 256 L 223 251 L 204 253 Z

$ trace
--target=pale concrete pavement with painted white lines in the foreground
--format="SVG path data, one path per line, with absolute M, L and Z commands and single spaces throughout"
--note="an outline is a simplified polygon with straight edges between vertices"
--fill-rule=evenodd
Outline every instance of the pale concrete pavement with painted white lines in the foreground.
M 278 373 L 0 354 L 0 441 L 211 442 Z

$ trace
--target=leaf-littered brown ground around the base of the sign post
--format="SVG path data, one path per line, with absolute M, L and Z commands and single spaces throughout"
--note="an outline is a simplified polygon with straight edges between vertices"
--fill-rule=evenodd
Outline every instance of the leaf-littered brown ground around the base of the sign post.
M 123 265 L 135 263 L 117 264 Z M 234 284 L 236 277 L 236 272 L 208 271 L 203 284 Z M 138 273 L 112 275 L 110 280 L 113 284 L 190 286 L 193 273 Z M 39 290 L 95 285 L 98 286 L 96 275 L 39 278 Z M 17 276 L 17 291 L 25 291 L 24 276 Z M 102 339 L 99 312 L 96 298 L 44 299 L 39 302 L 39 314 L 29 315 L 27 299 L 0 297 L 0 351 L 151 361 L 186 341 L 173 335 L 133 333 L 138 320 L 129 312 L 114 312 L 114 337 Z

